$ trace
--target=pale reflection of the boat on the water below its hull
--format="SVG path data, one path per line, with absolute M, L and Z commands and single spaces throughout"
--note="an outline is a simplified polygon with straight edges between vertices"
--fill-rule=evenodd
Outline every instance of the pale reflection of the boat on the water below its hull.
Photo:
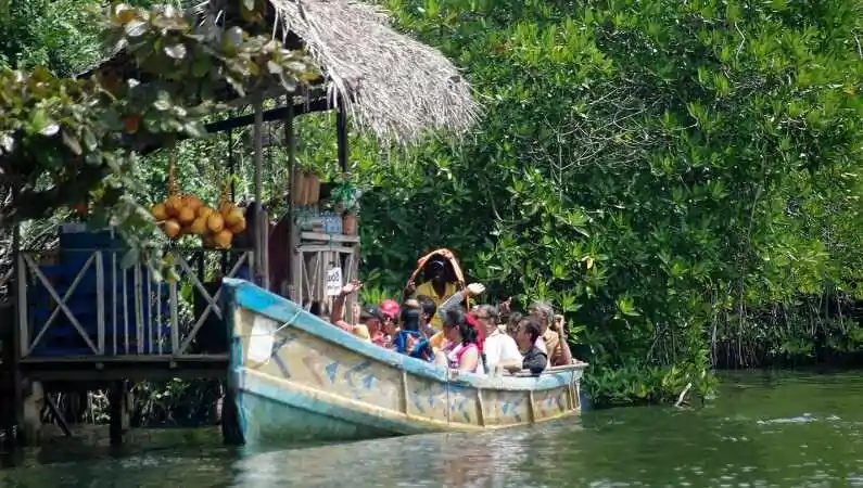
M 543 441 L 544 432 L 424 435 L 251 454 L 234 464 L 233 486 L 341 486 L 358 480 L 388 487 L 531 486 L 524 466 L 536 466 L 531 446 Z

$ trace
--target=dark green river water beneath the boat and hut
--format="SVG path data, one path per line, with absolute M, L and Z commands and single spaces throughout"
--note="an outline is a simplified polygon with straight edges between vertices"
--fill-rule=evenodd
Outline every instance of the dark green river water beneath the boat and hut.
M 725 377 L 705 408 L 629 408 L 481 435 L 267 452 L 218 432 L 138 432 L 120 451 L 52 444 L 5 458 L 0 487 L 863 486 L 863 374 Z

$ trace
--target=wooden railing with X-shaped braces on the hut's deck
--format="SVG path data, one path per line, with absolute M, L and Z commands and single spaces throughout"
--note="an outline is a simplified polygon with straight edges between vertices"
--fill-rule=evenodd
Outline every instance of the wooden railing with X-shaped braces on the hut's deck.
M 21 357 L 227 352 L 221 278 L 251 279 L 252 252 L 168 253 L 179 281 L 157 281 L 144 265 L 123 268 L 123 249 L 20 252 Z

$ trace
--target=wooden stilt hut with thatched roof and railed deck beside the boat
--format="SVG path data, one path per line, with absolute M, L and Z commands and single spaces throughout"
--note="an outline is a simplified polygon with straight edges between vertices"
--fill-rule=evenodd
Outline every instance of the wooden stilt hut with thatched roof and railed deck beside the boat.
M 251 21 L 249 15 L 245 17 L 241 15 L 242 9 L 246 5 L 254 7 L 252 10 L 255 15 Z M 216 94 L 217 101 L 234 107 L 250 104 L 255 107 L 253 116 L 223 120 L 207 128 L 211 132 L 252 124 L 255 128 L 257 204 L 254 206 L 256 209 L 253 214 L 254 223 L 249 227 L 253 230 L 251 232 L 253 239 L 250 239 L 253 242 L 253 249 L 242 249 L 244 256 L 254 253 L 254 278 L 259 280 L 262 285 L 282 294 L 285 293 L 287 284 L 288 296 L 296 301 L 314 299 L 316 298 L 314 294 L 318 293 L 316 290 L 320 290 L 320 284 L 326 279 L 327 273 L 321 270 L 327 262 L 342 260 L 342 266 L 348 268 L 345 279 L 350 279 L 352 272 L 356 272 L 359 239 L 356 235 L 335 236 L 301 232 L 295 226 L 293 205 L 289 206 L 287 218 L 280 222 L 280 224 L 287 222 L 287 226 L 270 229 L 270 226 L 265 224 L 268 220 L 265 220 L 266 216 L 261 207 L 263 124 L 266 120 L 277 119 L 283 119 L 285 123 L 288 159 L 291 166 L 292 197 L 289 202 L 293 202 L 297 189 L 292 143 L 294 116 L 312 111 L 338 110 L 339 160 L 344 169 L 347 159 L 345 126 L 348 120 L 357 130 L 370 132 L 382 141 L 404 144 L 416 141 L 427 131 L 458 132 L 468 129 L 478 116 L 479 106 L 471 98 L 470 87 L 449 61 L 435 50 L 396 33 L 389 25 L 386 14 L 378 7 L 368 3 L 355 0 L 207 0 L 189 10 L 188 14 L 194 17 L 202 29 L 229 29 L 239 26 L 250 34 L 272 35 L 281 39 L 288 49 L 307 50 L 319 65 L 318 79 L 300 86 L 291 92 L 274 82 L 272 87 L 258 87 L 254 97 L 245 99 L 227 84 L 207 87 L 211 93 Z M 119 79 L 123 80 L 134 78 L 142 84 L 148 82 L 147 69 L 139 67 L 135 56 L 122 49 L 81 76 L 111 77 L 112 73 L 119 75 Z M 192 87 L 192 91 L 195 89 L 198 88 Z M 284 102 L 282 106 L 265 111 L 264 99 L 284 100 Z M 153 143 L 154 141 L 136 140 L 135 147 L 145 150 L 148 144 Z M 155 143 L 158 144 L 157 141 Z M 74 237 L 77 234 L 68 235 Z M 31 253 L 28 254 L 18 249 L 17 245 L 14 246 L 17 256 L 15 273 L 17 334 L 13 341 L 15 344 L 13 369 L 16 371 L 15 374 L 20 373 L 22 376 L 38 372 L 39 377 L 51 380 L 87 382 L 123 380 L 112 383 L 112 394 L 109 396 L 112 398 L 111 435 L 112 440 L 116 440 L 122 438 L 123 412 L 127 408 L 127 402 L 122 399 L 125 398 L 127 388 L 125 380 L 130 375 L 141 378 L 156 375 L 162 377 L 166 374 L 165 371 L 169 371 L 167 373 L 169 377 L 224 375 L 227 354 L 208 350 L 204 352 L 210 356 L 204 358 L 190 349 L 191 343 L 199 338 L 199 331 L 203 332 L 202 328 L 207 326 L 211 321 L 216 321 L 215 330 L 201 335 L 225 336 L 225 328 L 216 319 L 216 316 L 220 318 L 216 290 L 219 283 L 202 284 L 200 274 L 203 272 L 195 278 L 186 257 L 179 256 L 178 262 L 186 269 L 187 278 L 191 277 L 190 284 L 193 284 L 198 298 L 203 298 L 201 300 L 203 311 L 201 313 L 195 311 L 194 325 L 187 333 L 185 330 L 181 331 L 179 325 L 180 287 L 176 281 L 169 285 L 161 282 L 151 283 L 151 280 L 141 278 L 143 270 L 140 266 L 132 267 L 132 270 L 119 269 L 118 254 L 113 249 L 115 246 L 113 234 L 110 235 L 110 240 L 99 245 L 89 237 L 87 241 L 92 244 L 84 246 L 88 247 L 87 249 L 80 248 L 80 245 L 76 245 L 74 249 L 66 249 L 69 251 L 69 256 L 89 256 L 84 265 L 74 266 L 69 262 L 61 264 L 62 266 L 47 262 L 42 266 L 41 262 L 34 261 Z M 109 247 L 105 248 L 105 245 Z M 89 248 L 92 246 L 97 249 Z M 282 273 L 276 274 L 276 280 L 272 280 L 274 274 L 270 272 L 268 249 L 287 256 L 287 259 L 274 266 Z M 178 253 L 187 251 L 179 249 Z M 204 249 L 199 251 L 203 256 Z M 110 257 L 105 258 L 109 255 Z M 345 256 L 347 259 L 344 259 Z M 93 262 L 94 270 L 89 268 Z M 199 262 L 203 267 L 203 258 Z M 238 259 L 231 272 L 242 262 L 244 261 Z M 317 269 L 313 270 L 315 267 Z M 64 292 L 65 297 L 61 298 L 62 293 L 56 292 L 55 285 L 45 278 L 41 270 L 48 268 L 53 269 L 55 274 L 60 273 L 58 269 L 63 268 L 61 278 L 74 280 L 68 285 L 67 292 Z M 37 285 L 33 279 L 34 273 L 38 275 L 41 285 Z M 87 285 L 89 287 L 85 291 L 87 293 L 81 295 L 84 298 L 76 301 L 87 311 L 87 321 L 80 322 L 65 303 L 72 299 L 69 295 L 73 288 L 78 286 L 85 274 L 94 277 L 94 280 L 92 282 L 89 278 L 85 280 L 90 283 Z M 131 280 L 129 274 L 132 275 Z M 109 277 L 111 277 L 110 286 L 106 284 Z M 270 283 L 271 281 L 276 282 Z M 312 282 L 310 287 L 309 282 Z M 118 286 L 119 283 L 122 286 Z M 131 283 L 128 285 L 128 292 L 127 283 Z M 155 286 L 155 291 L 151 291 L 151 284 Z M 211 284 L 215 287 L 210 287 Z M 49 293 L 59 304 L 56 308 L 51 306 L 53 311 L 43 306 L 42 292 Z M 198 298 L 195 308 L 199 305 Z M 162 304 L 169 304 L 169 311 L 163 313 Z M 37 318 L 35 312 L 29 314 L 28 310 L 37 308 L 48 318 Z M 53 339 L 42 341 L 47 337 L 49 326 L 51 333 L 60 329 L 52 324 L 52 321 L 59 317 L 60 309 L 67 318 L 67 321 L 61 324 L 64 328 L 62 334 L 54 337 L 58 339 L 56 344 L 51 343 Z M 167 329 L 165 323 L 169 324 Z M 73 331 L 73 326 L 77 332 Z M 51 344 L 43 344 L 46 342 Z M 149 356 L 148 360 L 141 359 L 144 355 Z M 105 360 L 107 357 L 111 357 L 111 361 Z M 187 372 L 183 373 L 181 370 Z M 16 409 L 20 411 L 24 410 L 21 407 L 24 404 L 22 402 L 24 395 L 24 391 L 15 388 Z M 31 397 L 36 398 L 36 394 Z M 54 414 L 56 415 L 56 412 Z

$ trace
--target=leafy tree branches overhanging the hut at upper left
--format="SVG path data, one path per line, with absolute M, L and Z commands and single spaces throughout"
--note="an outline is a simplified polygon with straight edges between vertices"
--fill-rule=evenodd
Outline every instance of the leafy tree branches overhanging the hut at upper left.
M 13 189 L 0 208 L 0 230 L 91 200 L 115 210 L 114 223 L 147 228 L 152 219 L 131 193 L 140 185 L 136 150 L 205 136 L 202 120 L 219 107 L 214 81 L 242 97 L 318 76 L 302 52 L 240 27 L 196 24 L 170 7 L 116 5 L 93 20 L 107 46 L 135 60 L 135 73 L 0 73 L 0 185 Z

